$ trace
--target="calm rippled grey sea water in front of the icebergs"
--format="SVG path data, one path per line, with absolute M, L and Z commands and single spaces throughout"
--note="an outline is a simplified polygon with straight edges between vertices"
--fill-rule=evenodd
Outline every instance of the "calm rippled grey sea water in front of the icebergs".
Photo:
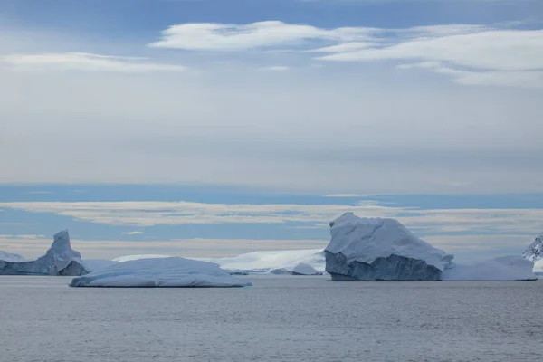
M 249 277 L 75 289 L 0 277 L 0 361 L 541 361 L 543 281 Z

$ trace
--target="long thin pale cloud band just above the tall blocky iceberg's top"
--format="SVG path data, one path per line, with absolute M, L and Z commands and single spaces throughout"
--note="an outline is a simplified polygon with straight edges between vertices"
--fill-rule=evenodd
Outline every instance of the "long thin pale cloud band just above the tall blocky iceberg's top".
M 148 227 L 159 224 L 328 224 L 346 212 L 394 217 L 417 233 L 517 233 L 543 230 L 542 209 L 434 209 L 384 205 L 251 205 L 195 202 L 19 202 L 0 207 L 53 213 L 95 224 Z

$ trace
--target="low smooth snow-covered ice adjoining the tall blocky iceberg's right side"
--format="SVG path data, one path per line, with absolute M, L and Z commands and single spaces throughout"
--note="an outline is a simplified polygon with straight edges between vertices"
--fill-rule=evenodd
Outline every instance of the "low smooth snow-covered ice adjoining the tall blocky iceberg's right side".
M 522 256 L 502 256 L 443 271 L 443 281 L 533 281 L 533 263 Z

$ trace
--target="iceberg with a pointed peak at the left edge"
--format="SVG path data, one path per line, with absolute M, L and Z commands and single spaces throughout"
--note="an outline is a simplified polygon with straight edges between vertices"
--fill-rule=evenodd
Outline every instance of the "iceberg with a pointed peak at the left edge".
M 51 248 L 32 261 L 0 260 L 0 275 L 84 275 L 89 271 L 81 262 L 81 254 L 71 249 L 68 230 L 55 233 Z

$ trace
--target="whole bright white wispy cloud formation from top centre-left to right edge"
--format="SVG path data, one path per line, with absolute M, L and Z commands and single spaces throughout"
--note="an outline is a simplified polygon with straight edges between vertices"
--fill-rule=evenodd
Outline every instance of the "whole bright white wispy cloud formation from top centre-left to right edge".
M 515 26 L 518 24 L 327 29 L 281 21 L 194 23 L 170 26 L 149 46 L 231 52 L 289 49 L 323 53 L 315 57 L 323 62 L 400 62 L 401 69 L 433 71 L 466 85 L 542 87 L 543 30 Z

